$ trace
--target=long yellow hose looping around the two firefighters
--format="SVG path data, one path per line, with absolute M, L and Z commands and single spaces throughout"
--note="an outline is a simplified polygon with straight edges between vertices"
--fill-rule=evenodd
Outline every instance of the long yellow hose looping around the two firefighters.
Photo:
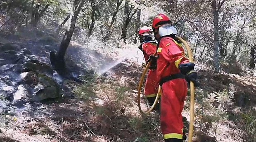
M 185 45 L 185 47 L 187 49 L 188 56 L 189 56 L 189 61 L 193 62 L 193 57 L 192 57 L 192 53 L 190 50 L 190 46 L 182 38 L 178 37 L 178 39 Z M 156 56 L 156 53 L 154 54 L 154 56 Z M 147 70 L 149 69 L 150 63 L 151 63 L 151 61 L 147 64 L 144 72 L 142 73 L 142 77 L 140 79 L 140 84 L 139 84 L 139 88 L 138 88 L 138 96 L 137 96 L 137 103 L 138 103 L 139 110 L 141 113 L 145 113 L 145 114 L 148 114 L 153 110 L 153 108 L 155 107 L 156 102 L 159 98 L 159 93 L 161 93 L 161 86 L 159 86 L 158 93 L 156 95 L 156 100 L 154 101 L 154 104 L 146 112 L 143 112 L 140 107 L 140 91 L 141 91 L 141 87 L 142 87 L 142 83 L 143 83 L 145 74 L 147 73 Z M 189 133 L 188 133 L 188 142 L 192 142 L 193 129 L 194 129 L 194 83 L 192 81 L 190 81 L 190 129 L 189 129 Z

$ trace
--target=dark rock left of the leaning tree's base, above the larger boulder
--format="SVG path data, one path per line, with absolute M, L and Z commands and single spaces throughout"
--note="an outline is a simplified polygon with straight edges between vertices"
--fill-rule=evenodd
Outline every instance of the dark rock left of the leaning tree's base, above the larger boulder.
M 47 65 L 46 63 L 42 63 L 38 60 L 30 60 L 24 63 L 23 68 L 21 70 L 22 72 L 29 72 L 29 71 L 41 72 L 49 76 L 52 76 L 53 74 L 53 69 L 51 68 L 50 65 Z

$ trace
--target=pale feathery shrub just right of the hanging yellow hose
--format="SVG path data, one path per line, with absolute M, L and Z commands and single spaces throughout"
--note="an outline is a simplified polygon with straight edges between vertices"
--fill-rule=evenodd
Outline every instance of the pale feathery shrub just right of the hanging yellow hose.
M 228 119 L 227 110 L 230 108 L 234 93 L 223 91 L 207 93 L 197 91 L 197 107 L 195 125 L 200 141 L 216 141 L 216 131 L 220 123 Z M 209 137 L 211 136 L 211 137 Z

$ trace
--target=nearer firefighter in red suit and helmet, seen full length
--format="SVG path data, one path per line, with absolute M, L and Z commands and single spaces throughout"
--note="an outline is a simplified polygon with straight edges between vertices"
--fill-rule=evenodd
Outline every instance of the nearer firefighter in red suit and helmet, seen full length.
M 161 94 L 161 131 L 165 142 L 183 142 L 183 106 L 187 95 L 187 82 L 197 83 L 197 72 L 194 63 L 190 63 L 184 56 L 184 49 L 175 37 L 177 30 L 171 20 L 164 14 L 153 19 L 152 28 L 158 40 L 157 56 L 150 56 L 157 60 L 157 80 L 162 88 Z

